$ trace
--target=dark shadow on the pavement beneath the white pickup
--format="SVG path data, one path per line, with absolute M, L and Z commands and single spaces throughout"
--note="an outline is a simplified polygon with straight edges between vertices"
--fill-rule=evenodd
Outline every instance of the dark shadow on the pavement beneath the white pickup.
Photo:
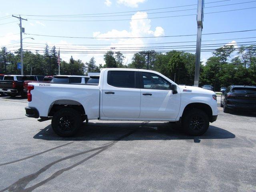
M 132 122 L 132 123 L 108 123 L 89 122 L 83 123 L 80 131 L 74 137 L 63 138 L 54 133 L 51 125 L 42 129 L 33 138 L 42 140 L 66 140 L 66 141 L 86 141 L 86 140 L 115 140 L 116 137 L 134 130 L 134 133 L 124 140 L 194 140 L 200 139 L 228 139 L 236 136 L 231 132 L 210 126 L 208 131 L 202 136 L 188 136 L 175 124 L 169 122 Z

